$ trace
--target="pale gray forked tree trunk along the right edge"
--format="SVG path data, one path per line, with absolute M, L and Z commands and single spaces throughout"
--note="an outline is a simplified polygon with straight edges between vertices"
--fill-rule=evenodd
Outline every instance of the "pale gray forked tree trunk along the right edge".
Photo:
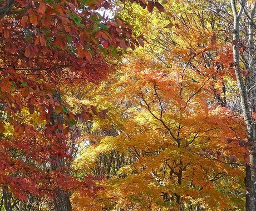
M 245 210 L 247 211 L 255 211 L 256 210 L 256 169 L 255 169 L 255 153 L 256 152 L 256 135 L 255 135 L 255 123 L 254 119 L 252 118 L 251 112 L 252 108 L 255 108 L 255 101 L 254 101 L 254 92 L 251 92 L 248 95 L 248 88 L 252 88 L 254 86 L 254 73 L 255 73 L 255 59 L 254 59 L 254 39 L 253 39 L 253 18 L 255 13 L 255 4 L 249 13 L 247 8 L 245 8 L 245 1 L 242 0 L 241 7 L 237 12 L 237 7 L 235 4 L 235 0 L 230 1 L 232 6 L 233 12 L 233 59 L 234 59 L 234 69 L 235 69 L 235 76 L 237 77 L 237 84 L 240 93 L 240 105 L 243 110 L 243 118 L 245 125 L 247 127 L 247 137 L 248 143 L 250 147 L 250 154 L 249 154 L 249 163 L 246 165 L 246 178 L 245 178 L 245 186 L 247 188 L 246 194 L 246 205 Z M 240 55 L 239 55 L 239 46 L 240 46 L 240 17 L 242 13 L 247 14 L 249 18 L 249 36 L 248 36 L 248 77 L 243 79 L 241 68 L 240 68 Z M 253 90 L 253 88 L 252 88 Z M 255 90 L 255 89 L 254 89 Z M 250 96 L 250 99 L 249 97 Z M 249 104 L 250 100 L 250 104 Z M 250 109 L 251 108 L 251 109 Z

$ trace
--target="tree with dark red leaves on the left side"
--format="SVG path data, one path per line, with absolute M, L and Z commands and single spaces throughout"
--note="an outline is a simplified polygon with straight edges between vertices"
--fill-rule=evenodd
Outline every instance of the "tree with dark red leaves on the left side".
M 57 200 L 58 189 L 93 185 L 76 182 L 60 166 L 70 158 L 66 140 L 76 119 L 92 119 L 85 105 L 71 113 L 60 95 L 63 84 L 100 81 L 109 71 L 104 55 L 137 44 L 121 18 L 96 12 L 111 7 L 105 1 L 2 2 L 0 184 L 6 210 L 17 205 L 12 194 Z M 56 162 L 60 169 L 50 169 Z

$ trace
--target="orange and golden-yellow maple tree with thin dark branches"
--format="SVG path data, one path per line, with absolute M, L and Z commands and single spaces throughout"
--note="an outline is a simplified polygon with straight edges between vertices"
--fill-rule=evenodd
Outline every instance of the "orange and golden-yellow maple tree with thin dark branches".
M 114 76 L 117 82 L 103 89 L 106 97 L 99 102 L 107 102 L 105 108 L 115 111 L 110 125 L 116 134 L 99 137 L 97 133 L 97 142 L 81 158 L 86 173 L 110 178 L 105 192 L 91 200 L 91 206 L 243 210 L 248 145 L 244 125 L 231 109 L 228 85 L 234 83 L 234 75 L 228 53 L 232 46 L 224 39 L 217 43 L 212 30 L 216 25 L 207 24 L 214 17 L 195 25 L 201 13 L 195 16 L 190 4 L 186 6 L 191 13 L 188 8 L 185 12 L 177 9 L 172 18 L 160 20 L 159 14 L 156 19 L 151 15 L 153 24 L 142 29 L 151 46 L 128 57 Z M 139 18 L 149 19 L 144 14 Z M 111 128 L 97 125 L 96 131 Z M 123 159 L 130 158 L 132 163 L 118 167 L 119 157 L 113 158 L 116 152 L 124 153 Z M 108 167 L 117 170 L 109 172 Z M 75 196 L 77 209 L 88 209 L 85 199 Z

